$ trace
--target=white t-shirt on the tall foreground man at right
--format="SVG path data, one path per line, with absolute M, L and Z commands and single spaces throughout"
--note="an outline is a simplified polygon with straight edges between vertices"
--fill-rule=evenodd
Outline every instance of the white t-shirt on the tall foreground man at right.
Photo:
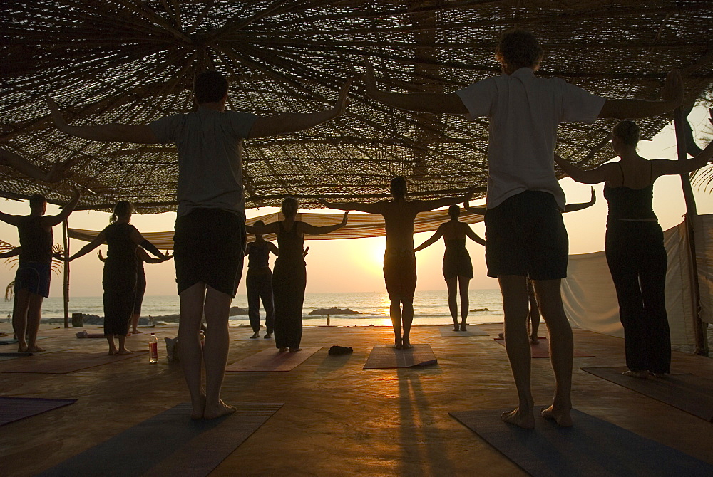
M 487 116 L 488 198 L 493 209 L 526 190 L 553 194 L 560 209 L 565 193 L 555 177 L 554 152 L 560 122 L 594 122 L 605 98 L 560 78 L 536 78 L 520 68 L 456 91 L 468 119 Z

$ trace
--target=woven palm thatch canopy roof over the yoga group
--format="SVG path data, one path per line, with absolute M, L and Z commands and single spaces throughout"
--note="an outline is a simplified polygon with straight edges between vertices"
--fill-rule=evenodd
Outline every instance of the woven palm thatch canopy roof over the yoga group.
M 0 139 L 38 165 L 76 158 L 81 208 L 119 199 L 138 209 L 175 209 L 175 148 L 67 137 L 49 122 L 52 95 L 75 125 L 146 123 L 193 108 L 195 75 L 226 73 L 228 108 L 272 115 L 329 107 L 344 80 L 374 64 L 380 87 L 451 92 L 499 73 L 493 50 L 503 31 L 533 31 L 557 75 L 607 98 L 657 99 L 679 68 L 692 101 L 713 81 L 713 2 L 624 1 L 178 1 L 3 2 Z M 383 198 L 390 177 L 411 196 L 462 194 L 486 185 L 487 121 L 411 114 L 352 88 L 340 118 L 311 130 L 245 143 L 247 205 L 286 195 Z M 667 118 L 643 120 L 650 138 Z M 558 152 L 594 166 L 613 156 L 612 122 L 563 125 Z M 48 187 L 0 171 L 0 195 L 43 192 L 67 201 L 68 184 Z M 476 194 L 477 195 L 477 194 Z

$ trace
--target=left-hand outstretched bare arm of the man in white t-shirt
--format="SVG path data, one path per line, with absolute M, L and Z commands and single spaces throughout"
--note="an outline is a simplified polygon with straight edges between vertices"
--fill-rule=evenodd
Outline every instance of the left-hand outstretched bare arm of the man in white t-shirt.
M 374 68 L 371 68 L 369 63 L 364 66 L 366 68 L 366 75 L 364 75 L 366 95 L 379 103 L 406 111 L 433 112 L 434 114 L 441 112 L 468 113 L 468 108 L 456 93 L 389 93 L 380 91 L 376 88 Z

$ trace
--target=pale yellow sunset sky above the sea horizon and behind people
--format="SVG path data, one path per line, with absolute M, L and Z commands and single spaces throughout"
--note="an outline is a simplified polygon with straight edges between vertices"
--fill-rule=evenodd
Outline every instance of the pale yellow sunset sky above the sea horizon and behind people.
M 689 120 L 696 137 L 702 136 L 707 126 L 707 110 L 697 108 Z M 699 145 L 702 142 L 699 141 Z M 665 127 L 652 141 L 640 143 L 639 152 L 650 159 L 676 159 L 676 147 L 672 125 Z M 569 178 L 560 181 L 568 203 L 585 202 L 590 199 L 590 186 L 577 184 Z M 604 236 L 607 216 L 607 204 L 602 196 L 602 184 L 595 186 L 597 203 L 583 211 L 564 214 L 565 226 L 570 237 L 570 254 L 590 253 L 604 248 Z M 388 184 L 384 184 L 387 192 Z M 697 189 L 694 185 L 699 214 L 713 213 L 713 196 L 711 192 Z M 481 205 L 485 199 L 473 204 Z M 6 214 L 29 214 L 29 206 L 25 202 L 0 199 L 0 210 Z M 663 229 L 669 229 L 682 221 L 685 204 L 681 189 L 681 179 L 678 176 L 661 177 L 654 187 L 654 210 L 659 217 Z M 47 214 L 57 214 L 57 206 L 48 206 Z M 250 218 L 276 211 L 273 208 L 249 209 L 247 221 Z M 330 209 L 320 211 L 338 213 Z M 310 211 L 313 212 L 313 211 Z M 351 214 L 357 214 L 352 212 Z M 350 214 L 350 215 L 351 215 Z M 101 230 L 108 225 L 109 215 L 95 211 L 76 211 L 69 218 L 69 226 L 78 229 Z M 141 232 L 173 230 L 175 213 L 165 214 L 135 214 L 131 220 Z M 473 231 L 485 236 L 485 226 L 473 224 Z M 416 234 L 414 245 L 418 246 L 431 236 L 431 232 Z M 55 243 L 61 243 L 61 226 L 54 228 Z M 14 226 L 0 222 L 0 239 L 18 244 L 17 229 Z M 250 240 L 250 237 L 248 238 Z M 70 251 L 78 251 L 86 242 L 71 239 Z M 309 246 L 307 256 L 307 293 L 340 293 L 340 292 L 383 292 L 384 278 L 381 272 L 384 254 L 384 238 L 319 240 L 306 241 Z M 416 253 L 418 264 L 417 290 L 446 290 L 443 281 L 441 264 L 443 261 L 443 240 L 441 239 L 424 251 Z M 494 278 L 486 277 L 486 266 L 483 247 L 473 241 L 467 243 L 468 252 L 473 261 L 473 280 L 471 288 L 498 288 Z M 106 255 L 106 246 L 101 246 Z M 15 262 L 16 263 L 16 262 Z M 270 264 L 274 263 L 271 255 Z M 146 295 L 175 295 L 175 270 L 173 261 L 160 264 L 146 264 L 146 279 L 148 282 Z M 0 285 L 4 288 L 14 280 L 15 268 L 11 263 L 0 261 Z M 96 251 L 71 262 L 70 293 L 72 296 L 101 296 L 102 263 L 96 256 Z M 240 282 L 238 294 L 245 295 L 245 274 Z M 61 296 L 62 277 L 52 278 L 50 296 Z

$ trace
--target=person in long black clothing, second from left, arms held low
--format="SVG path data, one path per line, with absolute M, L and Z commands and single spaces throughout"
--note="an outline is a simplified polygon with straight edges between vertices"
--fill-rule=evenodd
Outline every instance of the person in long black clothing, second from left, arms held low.
M 129 223 L 133 211 L 130 202 L 119 201 L 114 207 L 110 225 L 99 232 L 96 239 L 69 258 L 72 261 L 84 256 L 106 241 L 107 252 L 102 285 L 104 336 L 109 343 L 109 355 L 128 355 L 131 352 L 126 349 L 125 342 L 136 295 L 137 247 L 142 246 L 158 258 L 170 258 L 153 246 L 153 243 L 144 239 L 135 226 Z M 114 344 L 114 335 L 118 336 L 118 350 Z

